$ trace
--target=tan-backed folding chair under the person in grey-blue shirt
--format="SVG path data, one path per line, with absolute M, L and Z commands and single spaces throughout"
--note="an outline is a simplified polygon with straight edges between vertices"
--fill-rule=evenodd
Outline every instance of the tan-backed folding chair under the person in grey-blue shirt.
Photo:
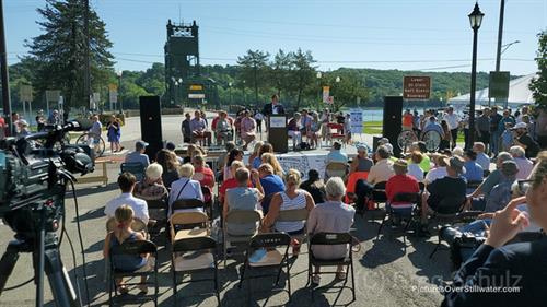
M 255 210 L 233 210 L 228 212 L 223 225 L 223 249 L 224 249 L 224 268 L 226 267 L 226 251 L 229 244 L 248 244 L 251 239 L 258 233 L 258 226 L 255 232 L 249 235 L 233 235 L 228 232 L 229 224 L 253 224 L 259 223 L 261 220 L 260 213 Z

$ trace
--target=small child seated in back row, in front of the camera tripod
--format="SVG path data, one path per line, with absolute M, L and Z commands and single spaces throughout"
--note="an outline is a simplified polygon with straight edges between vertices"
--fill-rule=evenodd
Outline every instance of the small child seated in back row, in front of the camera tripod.
M 131 229 L 131 223 L 133 221 L 133 210 L 131 206 L 124 204 L 116 209 L 114 212 L 114 217 L 116 219 L 117 226 L 114 232 L 106 235 L 104 241 L 104 258 L 109 257 L 110 248 L 114 246 L 121 245 L 127 241 L 144 240 L 144 236 L 141 233 L 133 232 Z M 117 270 L 132 272 L 144 267 L 148 262 L 148 255 L 116 255 L 112 258 L 113 265 Z M 138 285 L 140 290 L 139 294 L 147 294 L 148 287 L 144 284 L 147 276 L 141 276 L 141 283 Z M 121 279 L 116 280 L 116 287 L 119 293 L 126 294 L 129 290 L 123 284 Z

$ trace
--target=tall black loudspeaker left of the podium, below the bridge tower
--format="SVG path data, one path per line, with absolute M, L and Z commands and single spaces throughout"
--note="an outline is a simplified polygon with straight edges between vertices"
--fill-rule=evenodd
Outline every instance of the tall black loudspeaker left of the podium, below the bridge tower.
M 163 149 L 160 96 L 140 96 L 139 105 L 141 139 L 149 144 L 146 154 L 155 161 L 155 154 Z

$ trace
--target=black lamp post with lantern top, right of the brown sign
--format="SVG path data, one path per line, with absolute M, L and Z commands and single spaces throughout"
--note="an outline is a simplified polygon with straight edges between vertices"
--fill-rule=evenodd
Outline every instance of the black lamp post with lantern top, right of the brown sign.
M 482 17 L 478 3 L 475 3 L 473 12 L 469 14 L 469 23 L 473 29 L 473 61 L 472 61 L 472 88 L 469 98 L 469 144 L 475 142 L 475 91 L 477 87 L 477 36 Z

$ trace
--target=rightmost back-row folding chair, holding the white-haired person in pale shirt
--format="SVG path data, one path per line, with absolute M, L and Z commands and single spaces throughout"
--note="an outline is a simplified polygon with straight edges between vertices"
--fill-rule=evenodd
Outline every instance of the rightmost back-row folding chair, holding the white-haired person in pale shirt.
M 339 288 L 342 291 L 344 288 L 350 288 L 352 300 L 356 300 L 356 278 L 353 272 L 353 253 L 351 249 L 352 237 L 349 233 L 318 233 L 310 238 L 310 243 L 307 245 L 309 248 L 309 264 L 307 264 L 307 283 L 306 285 L 311 285 L 312 275 L 314 274 L 314 267 L 338 267 L 346 265 L 346 279 L 344 280 L 344 284 L 341 286 L 331 286 L 331 288 Z M 313 247 L 318 245 L 327 245 L 327 246 L 336 246 L 336 245 L 346 245 L 348 247 L 348 255 L 344 258 L 339 259 L 317 259 L 313 255 Z M 319 274 L 336 274 L 336 272 L 319 272 Z M 348 276 L 351 274 L 351 286 L 346 286 L 348 283 Z M 312 300 L 314 299 L 313 292 L 314 287 L 310 287 Z

